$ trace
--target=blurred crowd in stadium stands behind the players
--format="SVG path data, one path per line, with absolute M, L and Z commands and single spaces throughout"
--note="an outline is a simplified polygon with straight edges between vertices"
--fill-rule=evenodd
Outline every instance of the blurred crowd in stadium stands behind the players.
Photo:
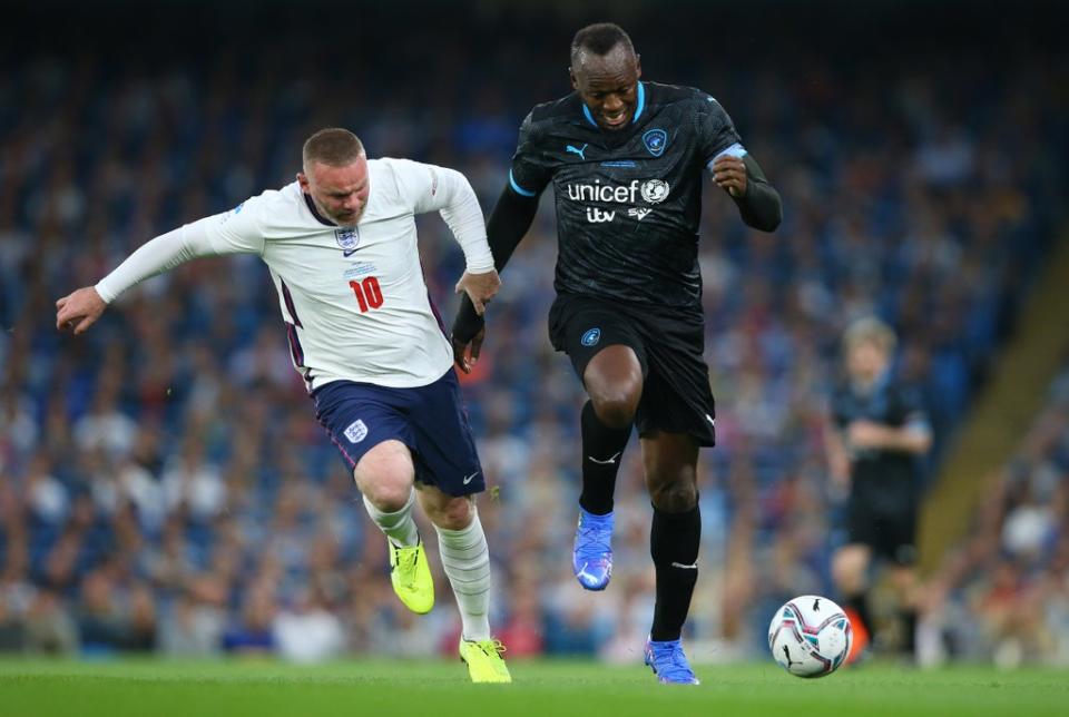
M 320 127 L 464 171 L 489 213 L 519 122 L 569 91 L 571 35 L 602 19 L 630 31 L 646 79 L 699 87 L 733 116 L 785 218 L 748 230 L 707 191 L 718 446 L 699 466 L 687 632 L 703 661 L 761 655 L 779 602 L 833 595 L 842 533 L 821 429 L 844 326 L 876 314 L 899 332 L 934 474 L 1065 229 L 1069 61 L 1041 18 L 912 2 L 193 3 L 131 32 L 131 7 L 22 9 L 6 36 L 26 31 L 0 49 L 0 650 L 454 647 L 440 571 L 433 613 L 393 597 L 384 539 L 314 420 L 258 259 L 184 265 L 82 337 L 53 326 L 56 298 L 148 238 L 292 181 Z M 421 220 L 421 253 L 449 316 L 463 258 L 438 217 Z M 547 338 L 555 259 L 546 197 L 464 382 L 491 484 L 492 623 L 511 656 L 635 661 L 653 610 L 638 442 L 612 589 L 585 592 L 569 562 L 583 394 Z M 991 469 L 973 532 L 933 578 L 922 651 L 1069 664 L 1069 373 Z

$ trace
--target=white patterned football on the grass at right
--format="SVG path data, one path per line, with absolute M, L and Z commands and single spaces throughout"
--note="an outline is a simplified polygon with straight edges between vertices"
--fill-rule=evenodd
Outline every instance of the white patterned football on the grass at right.
M 831 675 L 846 660 L 852 642 L 846 613 L 818 595 L 788 600 L 768 626 L 772 657 L 798 677 Z

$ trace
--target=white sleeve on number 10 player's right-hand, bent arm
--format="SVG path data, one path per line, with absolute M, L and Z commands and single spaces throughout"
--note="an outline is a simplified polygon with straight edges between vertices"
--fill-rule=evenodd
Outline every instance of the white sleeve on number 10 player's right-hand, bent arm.
M 487 243 L 487 225 L 479 198 L 468 178 L 455 169 L 411 159 L 391 159 L 398 194 L 411 202 L 413 214 L 438 212 L 457 237 L 468 271 L 484 274 L 493 269 Z

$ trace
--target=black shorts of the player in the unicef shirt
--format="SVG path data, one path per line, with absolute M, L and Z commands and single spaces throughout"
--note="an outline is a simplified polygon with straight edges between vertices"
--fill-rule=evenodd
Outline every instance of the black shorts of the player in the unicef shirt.
M 568 354 L 580 381 L 599 351 L 629 346 L 643 366 L 643 397 L 635 416 L 639 435 L 664 431 L 689 433 L 698 445 L 716 442 L 699 312 L 562 294 L 549 311 L 549 340 Z

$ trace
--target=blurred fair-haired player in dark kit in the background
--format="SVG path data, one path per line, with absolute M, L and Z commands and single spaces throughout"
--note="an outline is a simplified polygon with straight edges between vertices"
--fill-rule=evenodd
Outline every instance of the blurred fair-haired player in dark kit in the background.
M 825 435 L 833 484 L 846 498 L 846 543 L 832 557 L 832 577 L 854 628 L 847 661 L 872 633 L 869 566 L 890 564 L 898 592 L 902 651 L 912 657 L 916 631 L 916 513 L 921 463 L 932 432 L 920 395 L 893 380 L 895 337 L 875 318 L 862 318 L 843 337 L 847 381 L 832 396 Z

